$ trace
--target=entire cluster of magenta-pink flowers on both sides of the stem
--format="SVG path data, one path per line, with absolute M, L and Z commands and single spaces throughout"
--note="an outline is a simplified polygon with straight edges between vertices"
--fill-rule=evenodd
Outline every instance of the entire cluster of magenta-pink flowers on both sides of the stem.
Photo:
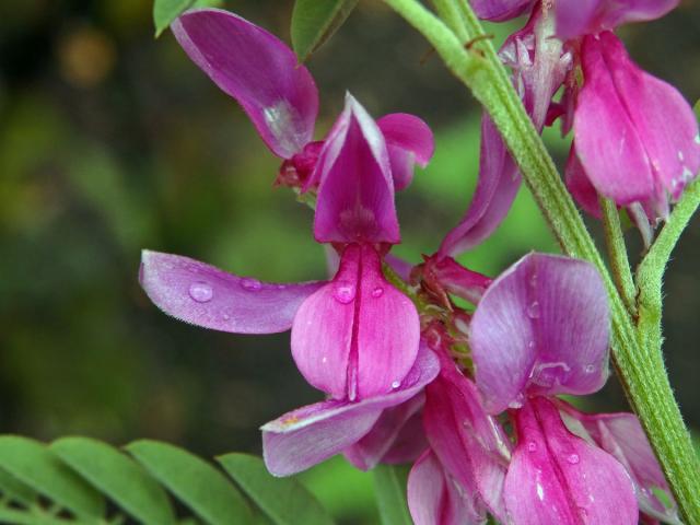
M 584 179 L 620 206 L 663 217 L 667 195 L 677 198 L 689 178 L 684 170 L 698 171 L 697 127 L 676 92 L 640 72 L 608 30 L 673 2 L 582 2 L 585 16 L 561 0 L 474 3 L 491 20 L 532 10 L 502 56 L 536 127 L 573 119 L 568 176 L 580 201 L 575 182 Z M 375 121 L 348 94 L 314 141 L 317 91 L 282 42 L 215 9 L 190 10 L 172 28 L 282 159 L 278 184 L 315 197 L 315 240 L 337 255 L 329 281 L 269 283 L 143 253 L 141 284 L 165 313 L 230 332 L 291 329 L 294 362 L 325 399 L 261 428 L 272 474 L 340 453 L 361 469 L 412 462 L 407 491 L 418 525 L 479 524 L 489 514 L 518 525 L 634 524 L 640 512 L 677 523 L 637 418 L 583 413 L 558 397 L 592 394 L 608 376 L 610 319 L 596 269 L 529 254 L 491 279 L 454 259 L 493 231 L 520 184 L 488 117 L 472 206 L 440 250 L 412 266 L 389 250 L 400 242 L 395 190 L 433 154 L 422 120 Z M 552 103 L 561 85 L 564 97 Z M 592 129 L 591 112 L 610 124 Z M 658 112 L 675 118 L 674 133 L 657 129 Z

